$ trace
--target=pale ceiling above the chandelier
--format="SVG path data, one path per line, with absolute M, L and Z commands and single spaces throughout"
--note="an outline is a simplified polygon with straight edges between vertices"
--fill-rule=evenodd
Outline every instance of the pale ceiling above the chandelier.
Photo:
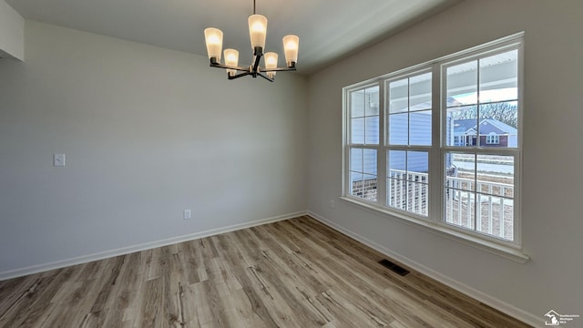
M 267 16 L 266 51 L 300 36 L 298 70 L 308 74 L 462 0 L 257 0 Z M 252 0 L 5 0 L 27 19 L 206 56 L 203 30 L 223 31 L 224 47 L 251 64 Z

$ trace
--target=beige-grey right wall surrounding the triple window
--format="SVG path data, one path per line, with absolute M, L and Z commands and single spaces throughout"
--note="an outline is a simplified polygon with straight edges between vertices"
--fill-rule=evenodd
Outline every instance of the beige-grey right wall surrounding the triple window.
M 309 78 L 309 209 L 323 220 L 504 311 L 541 325 L 583 315 L 583 2 L 466 0 Z M 525 31 L 526 264 L 330 200 L 342 186 L 342 87 Z M 421 264 L 419 264 L 421 263 Z M 583 317 L 573 326 L 583 325 Z

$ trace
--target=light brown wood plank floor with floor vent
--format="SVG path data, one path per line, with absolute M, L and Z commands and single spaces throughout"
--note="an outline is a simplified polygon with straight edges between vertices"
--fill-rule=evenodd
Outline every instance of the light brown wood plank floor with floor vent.
M 309 217 L 0 282 L 0 327 L 527 327 Z

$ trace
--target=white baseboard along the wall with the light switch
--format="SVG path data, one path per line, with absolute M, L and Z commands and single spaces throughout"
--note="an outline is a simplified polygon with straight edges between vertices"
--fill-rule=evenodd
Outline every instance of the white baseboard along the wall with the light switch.
M 90 261 L 103 260 L 103 259 L 111 258 L 114 256 L 118 256 L 118 255 L 129 254 L 129 253 L 136 252 L 136 251 L 145 251 L 145 250 L 149 250 L 149 249 L 153 249 L 153 248 L 157 248 L 157 247 L 168 246 L 168 245 L 183 242 L 183 241 L 194 241 L 194 240 L 198 240 L 200 238 L 218 235 L 220 233 L 225 233 L 225 232 L 230 232 L 230 231 L 238 231 L 241 229 L 251 228 L 251 227 L 258 226 L 258 225 L 276 222 L 276 221 L 280 221 L 280 220 L 289 220 L 292 218 L 297 218 L 297 217 L 302 216 L 302 215 L 306 215 L 307 213 L 308 212 L 304 210 L 304 211 L 299 211 L 299 212 L 295 212 L 295 213 L 279 215 L 279 216 L 272 217 L 272 218 L 261 219 L 261 220 L 252 220 L 249 222 L 234 224 L 234 225 L 230 225 L 230 226 L 223 227 L 223 228 L 211 229 L 209 231 L 201 231 L 201 232 L 191 233 L 188 235 L 172 237 L 172 238 L 161 240 L 161 241 L 145 242 L 145 243 L 141 243 L 138 245 L 119 248 L 116 250 L 100 251 L 100 252 L 93 253 L 93 254 L 77 256 L 75 258 L 59 260 L 59 261 L 52 261 L 52 262 L 48 262 L 48 263 L 29 266 L 26 268 L 9 270 L 9 271 L 5 271 L 5 272 L 0 272 L 0 281 L 12 279 L 12 278 L 16 278 L 16 277 L 22 277 L 22 276 L 26 276 L 28 274 L 33 274 L 33 273 L 38 273 L 38 272 L 47 272 L 50 270 L 65 268 L 65 267 L 71 266 L 71 265 L 87 263 Z

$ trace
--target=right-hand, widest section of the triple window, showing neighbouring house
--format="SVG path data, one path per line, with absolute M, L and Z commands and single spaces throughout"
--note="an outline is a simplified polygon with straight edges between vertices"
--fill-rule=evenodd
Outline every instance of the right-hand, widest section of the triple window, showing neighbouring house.
M 518 49 L 503 48 L 441 66 L 447 99 L 442 111 L 445 128 L 455 129 L 458 122 L 471 127 L 476 137 L 456 147 L 445 134 L 445 222 L 504 241 L 515 241 L 515 161 L 519 153 L 513 145 L 482 146 L 498 144 L 498 133 L 518 128 L 517 65 Z

